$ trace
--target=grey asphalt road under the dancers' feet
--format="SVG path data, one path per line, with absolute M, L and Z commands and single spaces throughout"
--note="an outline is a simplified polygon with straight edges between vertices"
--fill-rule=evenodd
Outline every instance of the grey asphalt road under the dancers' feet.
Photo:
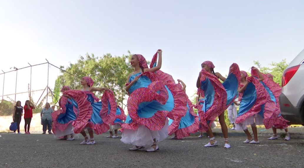
M 243 144 L 243 136 L 230 137 L 231 149 L 217 137 L 218 147 L 205 148 L 208 139 L 188 137 L 159 143 L 160 150 L 130 151 L 119 138 L 95 135 L 95 145 L 58 140 L 54 135 L 1 134 L 0 167 L 304 167 L 304 140 L 267 140 Z

